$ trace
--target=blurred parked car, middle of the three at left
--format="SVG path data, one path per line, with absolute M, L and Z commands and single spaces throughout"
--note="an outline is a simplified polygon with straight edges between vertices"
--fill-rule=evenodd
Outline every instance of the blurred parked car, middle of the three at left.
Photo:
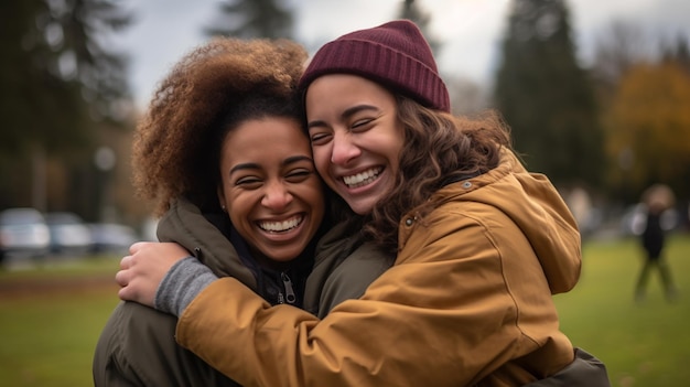
M 45 223 L 51 232 L 51 252 L 83 256 L 91 248 L 91 233 L 82 218 L 73 213 L 47 213 Z

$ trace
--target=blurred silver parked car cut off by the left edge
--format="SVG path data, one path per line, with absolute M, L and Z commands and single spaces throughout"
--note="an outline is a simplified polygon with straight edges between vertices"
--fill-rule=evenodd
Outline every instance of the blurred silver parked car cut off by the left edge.
M 0 259 L 9 256 L 45 256 L 50 241 L 45 218 L 35 208 L 8 208 L 0 213 Z

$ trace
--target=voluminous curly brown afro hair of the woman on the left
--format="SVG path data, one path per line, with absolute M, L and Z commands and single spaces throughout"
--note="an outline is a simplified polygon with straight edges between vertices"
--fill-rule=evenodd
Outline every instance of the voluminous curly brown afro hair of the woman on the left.
M 301 120 L 306 52 L 287 40 L 217 37 L 186 54 L 159 85 L 133 140 L 133 185 L 161 216 L 186 197 L 216 211 L 225 133 L 242 120 Z

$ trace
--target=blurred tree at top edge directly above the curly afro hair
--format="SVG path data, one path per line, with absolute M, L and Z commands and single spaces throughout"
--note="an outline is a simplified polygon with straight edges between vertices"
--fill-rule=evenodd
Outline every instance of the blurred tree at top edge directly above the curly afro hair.
M 226 0 L 218 19 L 205 29 L 209 36 L 241 39 L 293 36 L 292 12 L 284 0 Z

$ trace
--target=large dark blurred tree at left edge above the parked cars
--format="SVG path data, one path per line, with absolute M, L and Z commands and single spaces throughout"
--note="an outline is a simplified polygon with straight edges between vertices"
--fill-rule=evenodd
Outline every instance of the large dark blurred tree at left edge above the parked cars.
M 99 128 L 129 122 L 126 57 L 109 40 L 129 21 L 112 0 L 0 4 L 0 191 L 9 192 L 0 206 L 48 209 L 47 195 L 60 194 L 48 175 L 66 170 L 66 181 L 79 180 Z

